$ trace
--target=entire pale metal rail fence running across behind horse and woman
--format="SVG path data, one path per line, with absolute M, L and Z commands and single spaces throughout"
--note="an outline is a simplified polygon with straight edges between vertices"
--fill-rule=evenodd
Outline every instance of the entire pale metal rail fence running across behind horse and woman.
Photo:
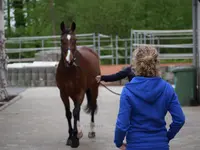
M 104 34 L 77 34 L 77 45 L 88 46 L 95 50 L 103 63 L 127 64 L 130 63 L 132 50 L 142 44 L 151 44 L 160 51 L 160 59 L 192 59 L 193 53 L 182 53 L 181 49 L 192 49 L 192 30 L 131 30 L 131 36 L 121 39 Z M 175 43 L 168 44 L 166 40 Z M 188 43 L 176 43 L 176 40 L 190 40 Z M 28 47 L 27 47 L 28 45 Z M 9 48 L 12 47 L 12 48 Z M 178 53 L 163 53 L 163 49 L 180 49 Z M 43 57 L 47 52 L 60 54 L 60 36 L 39 36 L 7 38 L 6 51 L 8 55 L 17 53 L 18 58 L 10 58 L 9 62 L 33 62 L 38 54 Z M 24 53 L 38 52 L 29 58 Z M 16 57 L 16 56 L 15 56 Z M 40 58 L 46 61 L 45 57 Z M 52 60 L 54 61 L 54 60 Z

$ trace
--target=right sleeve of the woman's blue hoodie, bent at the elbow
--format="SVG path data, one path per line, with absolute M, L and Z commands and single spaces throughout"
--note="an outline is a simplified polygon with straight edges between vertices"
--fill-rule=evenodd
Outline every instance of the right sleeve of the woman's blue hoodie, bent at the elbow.
M 185 115 L 182 111 L 181 105 L 178 101 L 178 97 L 175 92 L 173 92 L 172 100 L 169 104 L 168 111 L 172 116 L 172 123 L 170 124 L 170 128 L 167 132 L 167 137 L 170 141 L 176 136 L 176 134 L 185 124 Z

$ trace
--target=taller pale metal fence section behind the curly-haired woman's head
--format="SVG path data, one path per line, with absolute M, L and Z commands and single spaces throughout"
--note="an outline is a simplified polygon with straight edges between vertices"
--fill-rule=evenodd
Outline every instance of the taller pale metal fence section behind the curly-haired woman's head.
M 167 43 L 167 40 L 170 43 Z M 180 42 L 181 40 L 181 42 Z M 160 59 L 193 59 L 193 30 L 131 30 L 130 54 L 141 45 L 152 45 L 160 52 Z M 164 49 L 179 49 L 178 53 L 163 53 Z M 188 49 L 190 53 L 183 53 Z M 131 57 L 130 55 L 130 57 Z M 195 59 L 195 57 L 194 57 Z

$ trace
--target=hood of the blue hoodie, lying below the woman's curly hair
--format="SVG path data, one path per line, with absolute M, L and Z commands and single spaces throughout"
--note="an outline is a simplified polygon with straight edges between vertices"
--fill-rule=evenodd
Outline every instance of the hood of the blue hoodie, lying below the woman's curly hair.
M 160 77 L 134 77 L 125 87 L 139 99 L 154 103 L 163 93 L 166 82 Z

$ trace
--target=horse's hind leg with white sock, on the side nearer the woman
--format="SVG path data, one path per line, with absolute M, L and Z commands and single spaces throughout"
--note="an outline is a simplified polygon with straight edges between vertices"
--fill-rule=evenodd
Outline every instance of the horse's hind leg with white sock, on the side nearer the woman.
M 88 89 L 86 91 L 87 95 L 87 112 L 91 114 L 91 122 L 90 122 L 90 131 L 88 133 L 88 138 L 94 138 L 95 134 L 95 121 L 94 114 L 97 113 L 97 96 L 98 96 L 98 88 Z

